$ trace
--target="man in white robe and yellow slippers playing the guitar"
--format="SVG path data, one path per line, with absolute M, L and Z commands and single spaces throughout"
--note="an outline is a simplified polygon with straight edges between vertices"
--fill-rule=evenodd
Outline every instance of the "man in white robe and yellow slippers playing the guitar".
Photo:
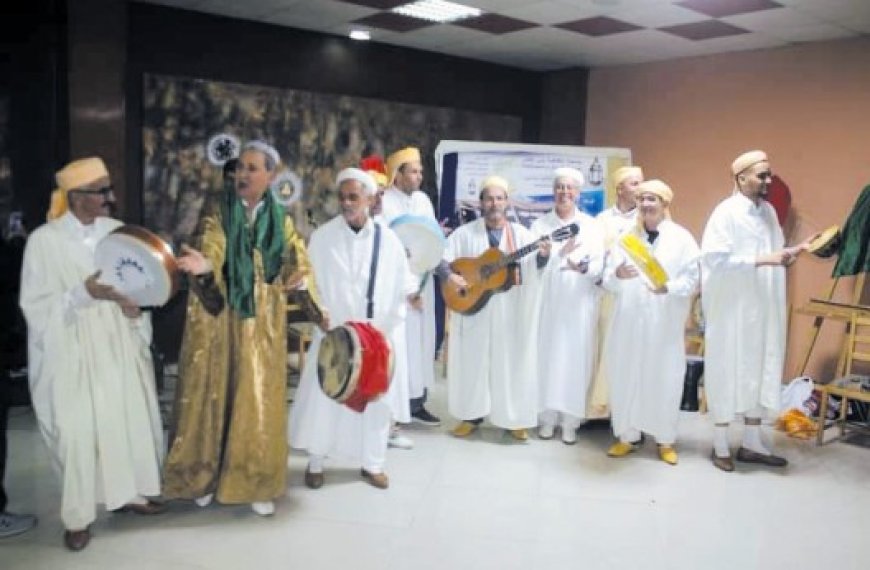
M 439 275 L 458 291 L 468 283 L 450 271 L 450 262 L 477 257 L 490 247 L 509 253 L 534 241 L 528 229 L 507 219 L 508 187 L 500 176 L 484 180 L 483 216 L 447 238 Z M 545 240 L 537 256 L 509 266 L 513 287 L 493 295 L 478 312 L 450 313 L 447 401 L 450 415 L 460 420 L 451 432 L 454 436 L 469 436 L 486 416 L 520 442 L 527 441 L 528 429 L 537 425 L 535 294 L 540 266 L 536 264 L 546 264 L 549 253 L 550 242 Z

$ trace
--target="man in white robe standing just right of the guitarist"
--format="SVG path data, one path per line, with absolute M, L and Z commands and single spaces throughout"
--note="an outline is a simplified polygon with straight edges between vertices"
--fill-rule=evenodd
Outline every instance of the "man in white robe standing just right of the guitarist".
M 545 236 L 574 223 L 578 235 L 551 254 L 541 276 L 538 324 L 539 427 L 551 439 L 559 425 L 562 441 L 577 441 L 586 417 L 586 393 L 594 371 L 604 235 L 591 216 L 577 208 L 583 174 L 575 168 L 554 172 L 553 210 L 535 220 L 532 233 Z

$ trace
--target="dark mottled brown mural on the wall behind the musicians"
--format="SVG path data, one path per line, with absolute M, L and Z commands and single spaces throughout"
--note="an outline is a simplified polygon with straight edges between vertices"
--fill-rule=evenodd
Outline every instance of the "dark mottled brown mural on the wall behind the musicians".
M 520 140 L 519 117 L 291 89 L 146 75 L 143 93 L 143 216 L 178 245 L 193 232 L 221 169 L 207 158 L 216 134 L 263 139 L 303 185 L 290 214 L 304 235 L 338 213 L 332 183 L 362 156 L 405 146 L 424 156 L 424 190 L 435 201 L 432 155 L 441 140 Z

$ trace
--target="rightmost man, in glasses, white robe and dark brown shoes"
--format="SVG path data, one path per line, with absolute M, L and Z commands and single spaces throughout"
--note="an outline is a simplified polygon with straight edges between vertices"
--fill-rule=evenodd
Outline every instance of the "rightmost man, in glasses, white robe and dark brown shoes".
M 705 387 L 713 429 L 713 464 L 733 471 L 728 424 L 744 418 L 736 459 L 771 467 L 788 462 L 761 438 L 765 411 L 779 410 L 786 341 L 785 268 L 807 243 L 785 247 L 776 211 L 765 198 L 770 161 L 760 150 L 731 165 L 734 192 L 713 210 L 701 240 L 706 320 Z

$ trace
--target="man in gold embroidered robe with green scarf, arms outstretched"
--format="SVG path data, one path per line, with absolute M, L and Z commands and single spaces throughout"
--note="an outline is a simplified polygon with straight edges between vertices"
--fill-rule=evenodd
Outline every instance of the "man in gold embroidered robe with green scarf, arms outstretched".
M 268 190 L 279 163 L 269 145 L 245 145 L 235 191 L 205 212 L 199 250 L 179 258 L 195 294 L 163 483 L 167 498 L 204 507 L 216 495 L 264 516 L 286 488 L 286 286 L 309 273 L 302 238 Z

